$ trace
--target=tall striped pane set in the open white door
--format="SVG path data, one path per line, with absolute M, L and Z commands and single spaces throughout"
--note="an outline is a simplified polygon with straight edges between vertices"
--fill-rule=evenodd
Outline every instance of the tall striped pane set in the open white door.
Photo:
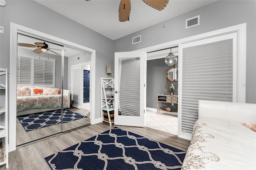
M 140 57 L 121 62 L 120 111 L 122 116 L 140 116 Z

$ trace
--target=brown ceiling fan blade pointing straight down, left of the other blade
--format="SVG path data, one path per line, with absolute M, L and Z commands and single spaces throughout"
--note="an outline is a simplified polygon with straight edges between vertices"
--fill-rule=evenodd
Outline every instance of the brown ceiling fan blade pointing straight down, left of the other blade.
M 128 21 L 131 11 L 131 2 L 130 0 L 121 0 L 119 5 L 119 21 L 124 22 Z

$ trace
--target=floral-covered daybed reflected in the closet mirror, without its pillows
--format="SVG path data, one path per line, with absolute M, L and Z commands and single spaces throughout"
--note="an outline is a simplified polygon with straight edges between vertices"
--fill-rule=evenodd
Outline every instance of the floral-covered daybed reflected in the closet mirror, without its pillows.
M 17 116 L 61 109 L 62 95 L 17 96 Z M 70 90 L 63 90 L 63 108 L 70 107 Z

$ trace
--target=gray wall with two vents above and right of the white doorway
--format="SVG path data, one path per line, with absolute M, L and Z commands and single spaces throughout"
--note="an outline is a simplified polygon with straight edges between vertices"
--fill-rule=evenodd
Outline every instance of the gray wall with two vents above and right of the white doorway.
M 185 20 L 200 15 L 200 25 L 185 29 Z M 247 23 L 246 103 L 256 103 L 256 1 L 219 0 L 114 41 L 114 51 L 132 51 L 237 24 Z M 166 28 L 163 29 L 163 26 Z M 141 35 L 142 42 L 132 45 Z M 148 99 L 147 99 L 148 100 Z

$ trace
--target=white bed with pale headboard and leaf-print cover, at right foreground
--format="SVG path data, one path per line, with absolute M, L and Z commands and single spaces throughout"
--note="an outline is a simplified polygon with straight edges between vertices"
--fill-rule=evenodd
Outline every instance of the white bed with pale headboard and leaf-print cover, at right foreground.
M 182 170 L 256 169 L 256 104 L 200 100 Z

